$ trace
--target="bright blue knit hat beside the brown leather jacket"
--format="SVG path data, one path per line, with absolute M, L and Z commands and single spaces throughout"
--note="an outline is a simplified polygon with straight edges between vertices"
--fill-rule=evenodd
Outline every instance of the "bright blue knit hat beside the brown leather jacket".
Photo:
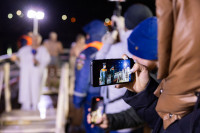
M 128 50 L 133 55 L 147 59 L 158 59 L 157 18 L 142 21 L 128 38 Z

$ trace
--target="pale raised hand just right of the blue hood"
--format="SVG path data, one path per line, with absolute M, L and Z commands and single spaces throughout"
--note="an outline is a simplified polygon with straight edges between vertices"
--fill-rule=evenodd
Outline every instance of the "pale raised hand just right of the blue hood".
M 102 43 L 103 44 L 114 44 L 115 41 L 117 40 L 117 35 L 118 35 L 118 32 L 116 30 L 114 30 L 112 32 L 107 32 L 102 37 Z

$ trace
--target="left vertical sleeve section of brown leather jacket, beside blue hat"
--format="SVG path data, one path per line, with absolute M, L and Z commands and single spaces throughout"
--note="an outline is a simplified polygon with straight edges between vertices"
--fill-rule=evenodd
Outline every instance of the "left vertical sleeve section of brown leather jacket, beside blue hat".
M 163 79 L 168 75 L 175 21 L 173 17 L 173 1 L 156 0 L 156 14 L 158 18 L 158 79 Z

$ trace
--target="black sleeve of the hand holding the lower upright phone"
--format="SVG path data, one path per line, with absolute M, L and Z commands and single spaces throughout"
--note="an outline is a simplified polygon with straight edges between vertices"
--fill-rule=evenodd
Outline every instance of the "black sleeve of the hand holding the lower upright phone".
M 116 114 L 107 114 L 107 119 L 109 130 L 137 128 L 144 124 L 133 108 Z

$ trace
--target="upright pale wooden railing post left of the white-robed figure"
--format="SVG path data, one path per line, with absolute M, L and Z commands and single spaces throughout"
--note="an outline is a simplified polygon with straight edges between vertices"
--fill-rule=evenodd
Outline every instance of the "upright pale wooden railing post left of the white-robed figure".
M 6 112 L 12 110 L 11 107 L 11 93 L 10 93 L 10 63 L 4 64 L 4 83 L 5 83 L 5 106 Z

